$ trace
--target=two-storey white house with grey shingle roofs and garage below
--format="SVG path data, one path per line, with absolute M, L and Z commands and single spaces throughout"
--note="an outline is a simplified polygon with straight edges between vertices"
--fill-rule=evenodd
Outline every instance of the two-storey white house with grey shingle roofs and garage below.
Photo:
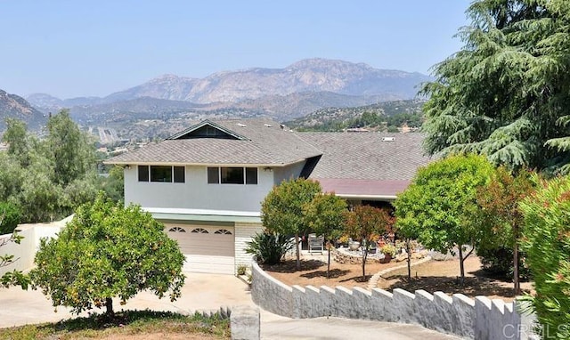
M 384 138 L 384 140 L 382 140 Z M 421 135 L 297 133 L 266 119 L 209 121 L 110 158 L 125 169 L 125 202 L 165 223 L 186 255 L 185 271 L 233 274 L 249 264 L 248 240 L 273 185 L 314 178 L 356 202 L 387 202 L 421 155 Z

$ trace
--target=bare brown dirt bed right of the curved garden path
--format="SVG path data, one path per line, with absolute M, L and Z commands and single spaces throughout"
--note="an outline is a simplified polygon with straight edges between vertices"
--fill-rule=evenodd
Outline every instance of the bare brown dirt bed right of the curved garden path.
M 392 290 L 403 288 L 410 292 L 423 289 L 429 293 L 442 291 L 446 294 L 461 293 L 470 297 L 486 295 L 489 298 L 501 298 L 512 301 L 513 283 L 501 279 L 493 279 L 482 270 L 481 262 L 476 256 L 465 261 L 465 284 L 460 285 L 459 260 L 428 261 L 411 268 L 411 281 L 408 281 L 408 271 L 395 270 L 379 279 L 379 288 Z M 531 282 L 523 282 L 521 288 L 525 292 L 532 289 Z

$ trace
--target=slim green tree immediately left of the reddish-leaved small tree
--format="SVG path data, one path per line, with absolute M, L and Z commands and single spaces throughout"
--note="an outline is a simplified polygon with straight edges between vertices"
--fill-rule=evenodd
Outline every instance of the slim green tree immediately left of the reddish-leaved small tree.
M 328 262 L 327 279 L 330 273 L 330 247 L 342 235 L 346 219 L 346 201 L 334 192 L 316 195 L 311 203 L 305 206 L 306 224 L 317 235 L 327 240 Z

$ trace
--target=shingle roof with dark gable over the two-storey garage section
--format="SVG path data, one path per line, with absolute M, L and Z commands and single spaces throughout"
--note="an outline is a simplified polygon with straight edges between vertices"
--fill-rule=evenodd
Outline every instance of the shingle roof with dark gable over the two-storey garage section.
M 165 140 L 127 152 L 110 164 L 220 164 L 220 165 L 287 165 L 321 155 L 310 143 L 280 124 L 268 119 L 216 121 L 246 140 L 192 138 Z

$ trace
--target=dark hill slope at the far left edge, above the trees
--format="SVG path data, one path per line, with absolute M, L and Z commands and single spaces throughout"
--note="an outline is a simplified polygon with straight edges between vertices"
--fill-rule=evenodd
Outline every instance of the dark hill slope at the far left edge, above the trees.
M 7 117 L 23 120 L 29 129 L 38 129 L 47 122 L 47 117 L 33 108 L 28 101 L 3 90 L 0 90 L 0 117 L 0 130 L 4 130 L 4 119 Z

